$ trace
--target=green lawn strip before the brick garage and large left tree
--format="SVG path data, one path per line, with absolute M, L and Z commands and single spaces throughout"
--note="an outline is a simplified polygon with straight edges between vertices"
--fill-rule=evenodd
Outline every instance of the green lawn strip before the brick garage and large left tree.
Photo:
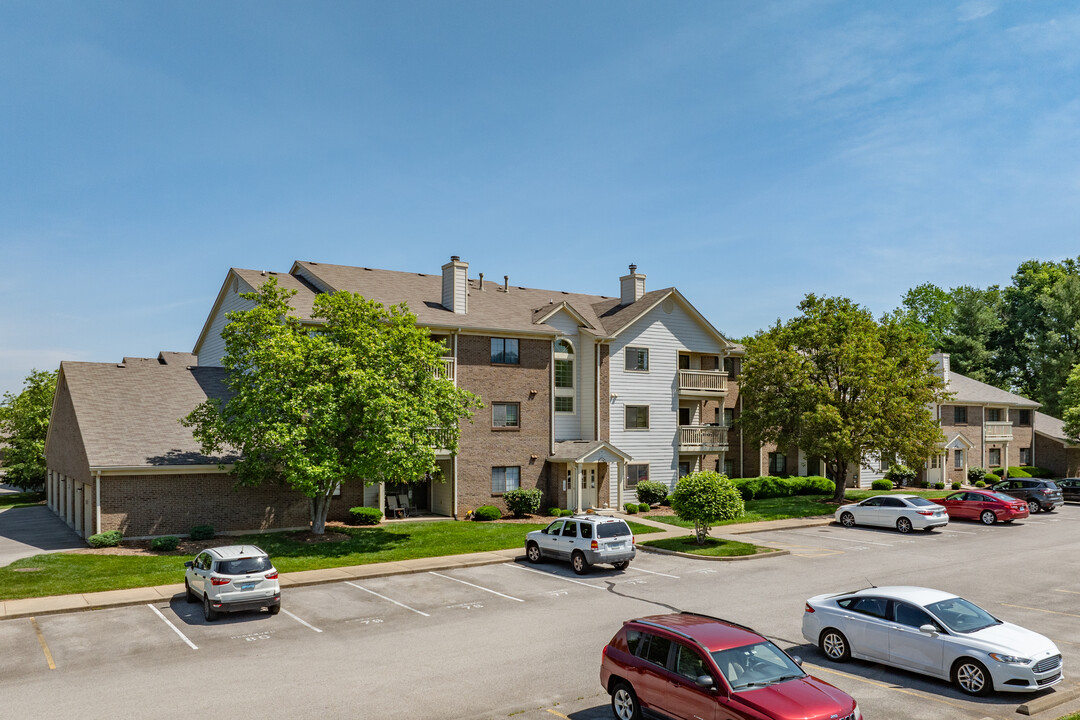
M 440 555 L 525 547 L 525 533 L 546 522 L 399 522 L 372 528 L 333 528 L 338 542 L 306 543 L 293 533 L 221 536 L 207 546 L 253 543 L 281 572 L 340 568 Z M 631 522 L 636 534 L 660 532 Z M 90 555 L 51 553 L 0 568 L 0 600 L 95 593 L 184 582 L 186 555 Z M 37 570 L 26 570 L 37 568 Z

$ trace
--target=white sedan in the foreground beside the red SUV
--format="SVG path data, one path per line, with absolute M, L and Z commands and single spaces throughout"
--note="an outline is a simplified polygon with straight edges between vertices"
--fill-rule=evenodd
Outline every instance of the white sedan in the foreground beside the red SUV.
M 836 662 L 861 657 L 950 680 L 963 692 L 1035 692 L 1062 681 L 1049 639 L 951 593 L 868 587 L 807 600 L 802 637 Z

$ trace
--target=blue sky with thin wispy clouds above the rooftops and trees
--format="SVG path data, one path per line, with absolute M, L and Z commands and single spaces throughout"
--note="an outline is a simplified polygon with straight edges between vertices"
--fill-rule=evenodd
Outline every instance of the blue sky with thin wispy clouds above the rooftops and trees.
M 0 392 L 190 350 L 229 267 L 807 293 L 1080 255 L 1080 9 L 0 0 Z

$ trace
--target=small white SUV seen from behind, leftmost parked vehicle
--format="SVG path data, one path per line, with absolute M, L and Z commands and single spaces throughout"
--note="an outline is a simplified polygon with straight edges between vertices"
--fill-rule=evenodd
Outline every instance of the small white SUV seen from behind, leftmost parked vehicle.
M 184 563 L 188 602 L 203 603 L 207 622 L 220 612 L 281 610 L 281 586 L 270 557 L 255 545 L 211 547 Z

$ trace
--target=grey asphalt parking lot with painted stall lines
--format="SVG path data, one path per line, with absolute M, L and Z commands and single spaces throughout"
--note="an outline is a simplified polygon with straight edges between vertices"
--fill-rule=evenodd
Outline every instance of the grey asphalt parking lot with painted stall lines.
M 951 590 L 1042 633 L 1065 658 L 1066 680 L 1051 692 L 1078 687 L 1080 506 L 1010 526 L 901 535 L 832 525 L 742 540 L 791 555 L 708 562 L 639 553 L 624 572 L 584 576 L 558 562 L 436 570 L 286 588 L 276 616 L 214 623 L 180 596 L 3 621 L 4 714 L 178 718 L 192 702 L 220 702 L 289 718 L 605 718 L 604 644 L 625 619 L 674 610 L 755 627 L 852 694 L 867 718 L 1011 718 L 1031 699 L 972 699 L 923 676 L 835 665 L 802 641 L 807 597 L 869 584 Z

